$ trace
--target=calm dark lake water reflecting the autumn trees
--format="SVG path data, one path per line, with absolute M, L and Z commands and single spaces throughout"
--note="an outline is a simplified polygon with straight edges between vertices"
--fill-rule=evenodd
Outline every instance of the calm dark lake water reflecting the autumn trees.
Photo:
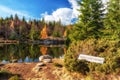
M 64 51 L 64 45 L 0 44 L 0 62 L 38 62 L 41 55 L 60 58 Z

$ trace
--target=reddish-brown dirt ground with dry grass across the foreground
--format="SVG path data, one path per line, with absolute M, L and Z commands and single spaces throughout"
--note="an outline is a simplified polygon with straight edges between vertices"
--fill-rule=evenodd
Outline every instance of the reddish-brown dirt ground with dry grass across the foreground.
M 54 63 L 63 64 L 63 60 L 54 59 L 52 63 L 45 63 L 39 71 L 35 71 L 36 65 L 40 62 L 32 63 L 9 63 L 0 65 L 0 70 L 4 69 L 12 74 L 18 75 L 19 80 L 91 80 L 89 76 L 81 76 L 77 73 L 67 73 L 64 67 L 56 67 Z M 120 80 L 120 75 L 99 75 L 95 80 Z M 0 80 L 9 80 L 0 75 Z

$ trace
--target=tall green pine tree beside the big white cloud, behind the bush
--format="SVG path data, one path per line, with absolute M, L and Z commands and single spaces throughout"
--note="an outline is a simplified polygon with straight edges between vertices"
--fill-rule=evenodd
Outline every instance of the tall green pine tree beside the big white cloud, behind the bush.
M 74 25 L 71 40 L 99 38 L 103 28 L 103 4 L 101 0 L 82 0 L 78 22 Z

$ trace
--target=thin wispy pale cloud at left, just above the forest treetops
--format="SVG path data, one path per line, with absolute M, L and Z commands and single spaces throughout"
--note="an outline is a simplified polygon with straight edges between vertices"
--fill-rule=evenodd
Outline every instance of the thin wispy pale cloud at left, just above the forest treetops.
M 15 15 L 15 14 L 17 14 L 20 18 L 22 18 L 23 16 L 26 19 L 33 18 L 24 11 L 13 10 L 6 6 L 0 5 L 0 17 L 5 18 L 6 16 L 9 17 L 10 15 Z

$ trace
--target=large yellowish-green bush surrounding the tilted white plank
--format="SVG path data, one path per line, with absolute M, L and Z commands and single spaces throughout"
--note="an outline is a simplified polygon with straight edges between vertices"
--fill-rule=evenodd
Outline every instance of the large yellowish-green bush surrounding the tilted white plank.
M 120 68 L 120 45 L 118 40 L 88 39 L 73 42 L 65 54 L 64 63 L 69 71 L 101 72 L 105 74 L 116 72 Z M 103 64 L 78 60 L 79 54 L 103 57 Z

